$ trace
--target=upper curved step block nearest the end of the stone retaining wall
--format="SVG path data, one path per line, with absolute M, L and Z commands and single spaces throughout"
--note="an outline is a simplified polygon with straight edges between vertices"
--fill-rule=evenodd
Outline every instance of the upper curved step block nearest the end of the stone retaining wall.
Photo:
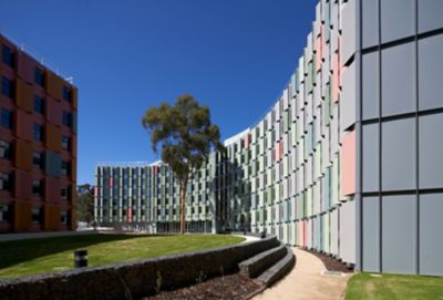
M 241 261 L 238 267 L 240 272 L 248 276 L 249 278 L 256 278 L 277 261 L 282 259 L 288 254 L 288 249 L 285 245 L 271 248 L 269 250 L 262 251 L 247 260 Z

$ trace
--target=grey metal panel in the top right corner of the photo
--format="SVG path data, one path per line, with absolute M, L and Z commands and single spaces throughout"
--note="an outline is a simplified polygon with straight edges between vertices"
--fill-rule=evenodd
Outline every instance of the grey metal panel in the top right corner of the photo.
M 443 28 L 443 1 L 418 0 L 419 2 L 419 33 Z

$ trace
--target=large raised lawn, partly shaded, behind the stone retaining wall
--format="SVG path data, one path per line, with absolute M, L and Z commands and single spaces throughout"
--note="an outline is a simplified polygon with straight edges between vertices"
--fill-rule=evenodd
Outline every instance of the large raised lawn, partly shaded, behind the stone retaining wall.
M 84 235 L 0 242 L 0 278 L 73 268 L 73 251 L 87 249 L 89 266 L 189 252 L 241 242 L 224 235 Z

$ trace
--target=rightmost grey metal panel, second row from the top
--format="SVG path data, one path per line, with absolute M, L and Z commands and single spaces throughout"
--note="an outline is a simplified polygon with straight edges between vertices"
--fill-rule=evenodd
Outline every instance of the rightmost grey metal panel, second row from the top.
M 443 1 L 441 1 L 443 6 Z M 439 12 L 442 15 L 442 12 Z M 443 20 L 443 17 L 441 17 Z M 420 110 L 443 107 L 443 34 L 419 41 L 419 107 Z

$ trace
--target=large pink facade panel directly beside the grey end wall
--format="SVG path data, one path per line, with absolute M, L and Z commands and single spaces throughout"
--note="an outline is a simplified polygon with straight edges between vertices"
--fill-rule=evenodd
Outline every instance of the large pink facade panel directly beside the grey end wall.
M 340 153 L 340 192 L 341 195 L 356 194 L 356 132 L 343 136 Z

